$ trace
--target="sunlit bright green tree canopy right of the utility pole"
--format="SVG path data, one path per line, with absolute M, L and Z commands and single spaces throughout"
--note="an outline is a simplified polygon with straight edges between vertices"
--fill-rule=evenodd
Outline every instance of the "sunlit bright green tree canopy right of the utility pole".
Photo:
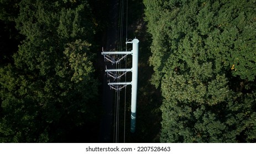
M 255 142 L 256 1 L 144 4 L 161 142 Z

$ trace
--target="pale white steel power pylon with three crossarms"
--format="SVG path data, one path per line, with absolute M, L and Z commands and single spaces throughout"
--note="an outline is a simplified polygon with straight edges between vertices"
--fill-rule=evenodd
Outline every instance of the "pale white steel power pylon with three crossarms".
M 114 89 L 114 90 L 121 90 L 123 87 L 126 87 L 127 85 L 132 85 L 130 131 L 132 133 L 134 133 L 135 132 L 135 124 L 136 124 L 139 40 L 137 38 L 134 38 L 132 41 L 126 42 L 126 43 L 132 43 L 133 44 L 132 51 L 117 51 L 117 52 L 106 51 L 106 52 L 104 52 L 102 50 L 101 54 L 104 56 L 105 61 L 109 61 L 112 64 L 115 64 L 115 63 L 117 64 L 120 61 L 122 61 L 122 59 L 127 57 L 129 54 L 132 54 L 132 68 L 130 68 L 130 69 L 106 69 L 105 72 L 107 72 L 107 74 L 109 76 L 111 76 L 112 78 L 114 78 L 114 79 L 119 79 L 124 74 L 126 74 L 127 72 L 132 72 L 132 81 L 124 82 L 124 83 L 122 83 L 122 82 L 108 83 L 108 85 L 111 87 L 111 89 Z M 109 55 L 117 55 L 117 54 L 122 54 L 124 56 L 122 56 L 122 58 L 119 58 L 119 59 L 115 59 L 115 58 L 109 56 Z M 117 76 L 117 72 L 123 72 L 123 74 Z

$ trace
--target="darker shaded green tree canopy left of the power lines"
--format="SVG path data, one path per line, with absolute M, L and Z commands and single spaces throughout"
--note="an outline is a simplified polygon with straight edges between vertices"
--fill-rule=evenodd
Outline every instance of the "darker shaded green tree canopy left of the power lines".
M 97 114 L 90 5 L 71 0 L 0 2 L 1 20 L 15 21 L 25 38 L 14 63 L 0 69 L 0 142 L 91 141 L 80 137 L 90 137 Z

